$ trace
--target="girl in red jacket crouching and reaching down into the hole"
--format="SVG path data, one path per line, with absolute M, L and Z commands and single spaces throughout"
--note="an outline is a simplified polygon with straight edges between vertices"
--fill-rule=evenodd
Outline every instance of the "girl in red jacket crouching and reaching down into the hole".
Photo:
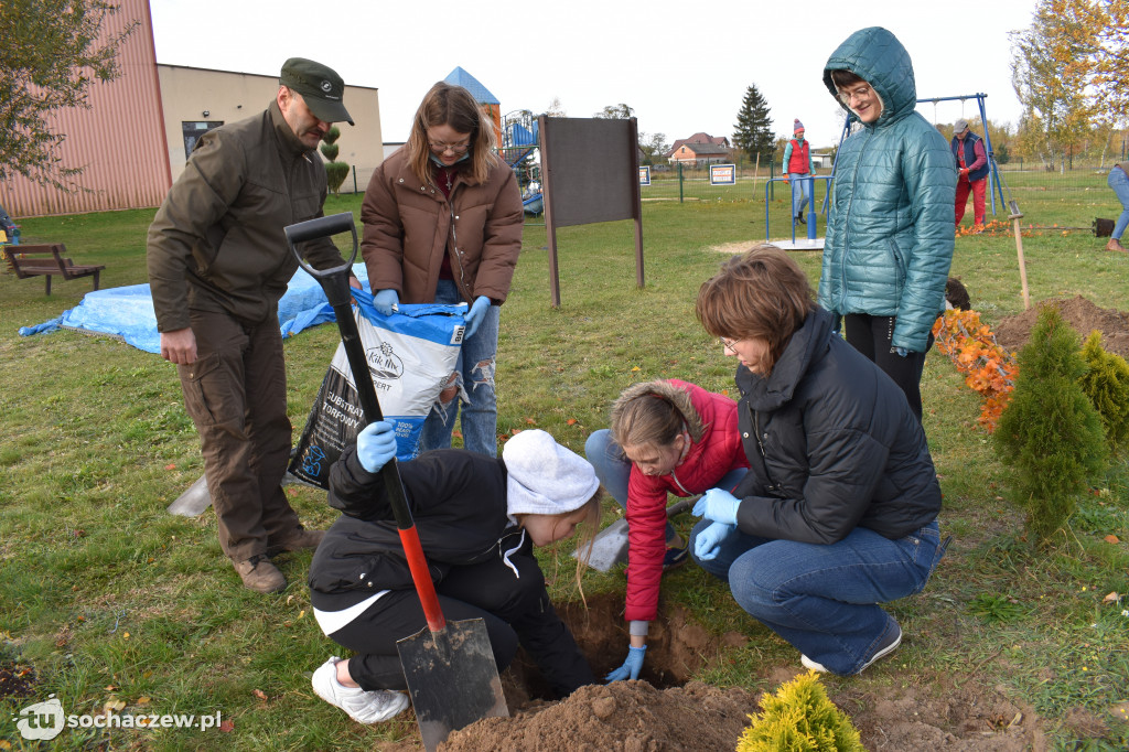
M 744 476 L 737 403 L 677 379 L 634 384 L 612 405 L 611 428 L 594 431 L 584 452 L 628 519 L 630 649 L 607 681 L 638 679 L 663 571 L 686 559 L 685 541 L 666 522 L 667 495 L 733 489 Z

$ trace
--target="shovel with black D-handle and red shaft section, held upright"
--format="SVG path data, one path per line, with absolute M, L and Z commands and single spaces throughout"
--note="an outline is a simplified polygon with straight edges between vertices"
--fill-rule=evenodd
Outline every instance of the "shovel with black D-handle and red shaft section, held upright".
M 352 213 L 318 217 L 290 225 L 283 231 L 298 263 L 321 283 L 333 307 L 365 420 L 382 420 L 384 416 L 380 403 L 369 377 L 364 343 L 350 305 L 349 272 L 357 257 L 357 228 Z M 344 265 L 316 270 L 301 257 L 296 247 L 298 243 L 338 233 L 352 233 L 353 237 L 352 255 Z M 395 458 L 380 469 L 380 476 L 388 489 L 400 542 L 404 546 L 404 557 L 427 617 L 427 628 L 399 640 L 396 649 L 400 652 L 400 663 L 415 708 L 423 746 L 427 752 L 435 752 L 450 732 L 481 718 L 508 717 L 509 709 L 501 691 L 485 622 L 481 619 L 466 619 L 448 623 L 443 617 L 419 533 L 404 498 Z

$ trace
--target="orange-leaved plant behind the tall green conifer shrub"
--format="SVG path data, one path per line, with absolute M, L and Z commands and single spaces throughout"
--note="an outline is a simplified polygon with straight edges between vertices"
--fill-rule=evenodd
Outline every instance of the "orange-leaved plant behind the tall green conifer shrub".
M 996 342 L 991 327 L 975 311 L 946 311 L 934 324 L 933 335 L 937 349 L 964 374 L 968 387 L 983 396 L 978 420 L 991 434 L 1012 399 L 1018 373 L 1015 356 Z

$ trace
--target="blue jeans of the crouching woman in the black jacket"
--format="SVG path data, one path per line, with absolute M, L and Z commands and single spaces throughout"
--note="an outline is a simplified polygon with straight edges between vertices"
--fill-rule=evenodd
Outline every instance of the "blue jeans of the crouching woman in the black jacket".
M 694 539 L 711 523 L 694 526 Z M 940 557 L 937 521 L 896 541 L 856 527 L 838 543 L 735 532 L 698 565 L 729 584 L 737 605 L 829 671 L 857 673 L 896 627 L 878 603 L 918 593 Z

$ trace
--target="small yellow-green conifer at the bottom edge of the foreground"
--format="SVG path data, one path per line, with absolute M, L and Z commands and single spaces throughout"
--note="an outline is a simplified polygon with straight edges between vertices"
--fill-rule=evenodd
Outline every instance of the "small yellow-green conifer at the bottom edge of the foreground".
M 866 752 L 850 718 L 828 698 L 814 671 L 761 698 L 737 752 Z

